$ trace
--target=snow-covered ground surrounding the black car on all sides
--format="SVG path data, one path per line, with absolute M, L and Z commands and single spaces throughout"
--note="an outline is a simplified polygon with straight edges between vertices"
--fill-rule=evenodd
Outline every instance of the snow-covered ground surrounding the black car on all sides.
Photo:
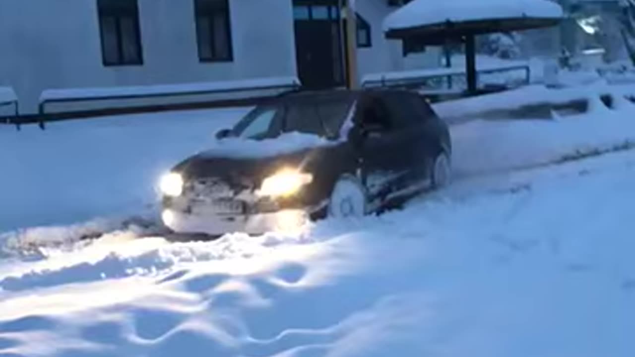
M 34 208 L 13 213 L 28 225 L 144 210 L 156 175 L 241 112 L 0 127 L 16 172 L 0 221 L 10 205 Z M 0 355 L 632 356 L 634 114 L 455 125 L 455 184 L 381 217 L 207 243 L 130 229 L 4 257 Z

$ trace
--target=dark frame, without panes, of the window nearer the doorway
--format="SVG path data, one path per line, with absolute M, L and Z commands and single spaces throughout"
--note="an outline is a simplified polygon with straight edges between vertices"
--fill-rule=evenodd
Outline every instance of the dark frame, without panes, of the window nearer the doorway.
M 229 6 L 229 0 L 220 0 L 223 5 L 219 8 L 205 8 L 201 2 L 205 0 L 194 0 L 194 30 L 196 33 L 196 50 L 199 63 L 216 63 L 216 62 L 234 62 L 234 44 L 232 43 L 232 24 L 231 24 L 231 8 Z M 214 30 L 214 18 L 218 14 L 222 14 L 225 19 L 225 34 L 227 38 L 227 57 L 219 57 L 216 55 L 215 50 L 215 30 Z M 208 45 L 211 49 L 211 56 L 204 57 L 201 50 L 201 39 L 199 38 L 199 18 L 206 18 L 210 24 L 210 34 Z

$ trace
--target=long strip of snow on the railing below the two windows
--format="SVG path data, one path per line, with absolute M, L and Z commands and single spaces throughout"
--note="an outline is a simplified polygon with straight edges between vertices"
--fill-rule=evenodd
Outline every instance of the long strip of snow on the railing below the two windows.
M 99 99 L 112 97 L 138 97 L 156 95 L 178 95 L 209 93 L 211 91 L 261 90 L 272 87 L 296 88 L 300 85 L 296 77 L 264 77 L 240 81 L 217 81 L 209 83 L 164 84 L 152 86 L 126 86 L 104 88 L 74 88 L 44 90 L 40 102 L 58 99 Z

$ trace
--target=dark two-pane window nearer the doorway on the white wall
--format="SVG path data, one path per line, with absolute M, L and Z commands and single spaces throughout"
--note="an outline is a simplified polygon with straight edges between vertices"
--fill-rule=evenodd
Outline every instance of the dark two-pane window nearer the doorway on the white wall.
M 231 62 L 231 24 L 228 0 L 194 0 L 196 38 L 201 62 Z

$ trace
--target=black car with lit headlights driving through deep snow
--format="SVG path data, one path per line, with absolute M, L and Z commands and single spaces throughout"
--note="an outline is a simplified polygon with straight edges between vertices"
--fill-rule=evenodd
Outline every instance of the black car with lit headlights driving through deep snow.
M 289 93 L 161 180 L 171 230 L 262 234 L 379 212 L 450 179 L 447 126 L 409 91 Z

